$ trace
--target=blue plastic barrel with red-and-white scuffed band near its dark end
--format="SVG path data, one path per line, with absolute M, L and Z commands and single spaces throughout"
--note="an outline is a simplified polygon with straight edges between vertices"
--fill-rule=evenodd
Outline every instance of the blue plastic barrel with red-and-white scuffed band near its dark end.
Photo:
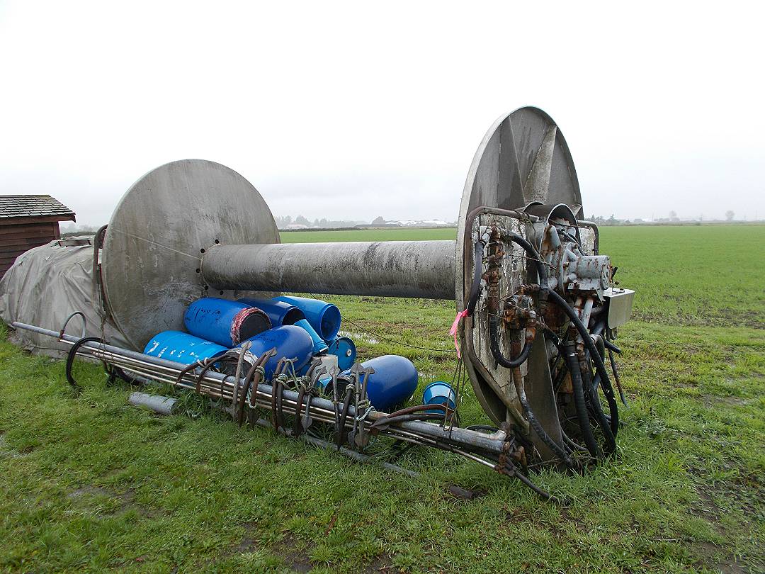
M 184 325 L 190 334 L 231 348 L 270 329 L 271 321 L 252 305 L 204 297 L 188 306 Z

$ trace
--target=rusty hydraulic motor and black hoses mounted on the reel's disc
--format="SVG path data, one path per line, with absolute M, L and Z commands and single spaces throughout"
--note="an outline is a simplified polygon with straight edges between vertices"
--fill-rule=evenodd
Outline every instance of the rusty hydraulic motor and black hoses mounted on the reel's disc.
M 604 311 L 607 305 L 606 292 L 611 282 L 610 259 L 607 256 L 583 253 L 584 233 L 579 228 L 591 232 L 593 228 L 589 223 L 580 225 L 568 207 L 539 204 L 533 207 L 531 211 L 537 214 L 533 217 L 526 210 L 511 212 L 487 207 L 478 207 L 470 214 L 471 228 L 481 215 L 487 215 L 493 223 L 479 226 L 470 234 L 474 240 L 474 260 L 477 265 L 467 307 L 468 311 L 472 311 L 468 313 L 470 324 L 467 329 L 487 325 L 488 342 L 484 341 L 479 347 L 467 347 L 466 356 L 474 365 L 480 365 L 485 373 L 489 373 L 488 377 L 491 377 L 490 381 L 495 387 L 499 386 L 498 379 L 504 370 L 509 370 L 513 387 L 508 391 L 514 393 L 511 395 L 507 392 L 505 396 L 511 396 L 513 402 L 519 405 L 519 409 L 516 407 L 516 419 L 528 424 L 537 445 L 543 443 L 558 461 L 569 468 L 578 469 L 580 464 L 572 455 L 581 457 L 581 452 L 588 452 L 593 459 L 597 459 L 612 454 L 616 449 L 619 415 L 610 376 L 604 364 L 606 345 L 615 346 L 610 343 L 610 331 L 606 330 L 605 338 L 601 334 L 607 316 Z M 539 217 L 539 214 L 547 214 L 546 220 Z M 496 223 L 499 217 L 504 217 L 506 221 L 515 220 L 516 229 L 529 239 L 499 227 Z M 484 239 L 486 237 L 488 240 Z M 589 245 L 594 249 L 596 239 L 590 236 L 589 240 Z M 521 248 L 517 256 L 513 254 L 513 243 Z M 540 249 L 535 245 L 539 245 Z M 484 246 L 486 256 L 483 253 Z M 465 250 L 467 252 L 467 245 Z M 506 259 L 513 257 L 516 261 L 508 264 Z M 519 261 L 531 265 L 521 273 L 506 273 L 506 269 L 519 269 Z M 485 288 L 482 289 L 477 283 L 477 277 L 478 269 L 483 269 L 484 264 L 486 272 L 481 277 Z M 549 273 L 548 269 L 553 272 Z M 516 285 L 513 285 L 513 280 Z M 500 297 L 502 282 L 508 285 Z M 483 295 L 476 296 L 476 292 L 482 290 Z M 476 313 L 478 301 L 482 301 L 483 305 Z M 509 338 L 510 358 L 503 352 L 503 332 Z M 470 344 L 470 337 L 466 339 Z M 529 359 L 533 346 L 540 342 L 545 353 L 549 354 L 547 364 L 538 364 L 535 373 L 529 368 L 524 377 L 520 367 Z M 485 348 L 480 347 L 488 347 L 490 354 L 486 355 Z M 493 360 L 493 365 L 486 357 Z M 537 376 L 537 380 L 532 382 L 537 387 L 535 390 L 538 390 L 540 384 L 547 382 L 539 380 L 539 371 L 546 371 L 542 374 L 551 380 L 549 373 L 555 365 L 559 365 L 557 384 L 551 390 L 558 420 L 568 421 L 575 414 L 578 424 L 564 422 L 555 425 L 555 421 L 551 422 L 551 418 L 546 417 L 542 425 L 527 400 L 526 385 L 532 374 Z M 490 369 L 494 370 L 494 377 Z M 617 377 L 615 363 L 612 370 L 614 377 Z M 570 388 L 559 384 L 565 376 L 571 382 Z M 606 399 L 608 416 L 601 408 L 598 390 L 602 390 Z M 513 403 L 507 407 L 508 410 L 513 409 Z M 571 413 L 572 410 L 575 413 Z M 597 426 L 603 435 L 602 448 L 594 436 L 593 426 Z M 516 426 L 516 432 L 522 433 L 523 429 Z M 559 439 L 555 440 L 552 436 Z M 578 445 L 570 436 L 579 437 L 586 446 Z

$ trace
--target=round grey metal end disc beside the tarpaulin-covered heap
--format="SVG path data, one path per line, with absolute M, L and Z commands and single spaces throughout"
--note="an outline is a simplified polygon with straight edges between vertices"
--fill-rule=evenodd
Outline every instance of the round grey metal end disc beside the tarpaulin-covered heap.
M 122 196 L 101 269 L 114 322 L 138 350 L 158 331 L 183 329 L 184 311 L 213 295 L 200 273 L 216 243 L 279 243 L 269 206 L 241 175 L 214 161 L 172 161 Z M 233 298 L 235 292 L 214 292 Z

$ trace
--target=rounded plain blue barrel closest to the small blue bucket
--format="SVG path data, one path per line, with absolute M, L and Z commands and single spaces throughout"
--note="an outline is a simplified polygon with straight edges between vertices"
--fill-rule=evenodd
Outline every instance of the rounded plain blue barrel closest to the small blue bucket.
M 364 361 L 361 366 L 375 370 L 369 375 L 366 394 L 375 409 L 383 413 L 389 413 L 392 407 L 409 400 L 417 390 L 417 369 L 406 357 L 382 355 Z M 347 377 L 350 370 L 342 374 Z

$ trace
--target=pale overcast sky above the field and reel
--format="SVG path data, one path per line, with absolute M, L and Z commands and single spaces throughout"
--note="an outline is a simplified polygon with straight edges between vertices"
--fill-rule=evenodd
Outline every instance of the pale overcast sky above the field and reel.
M 0 194 L 99 225 L 205 158 L 277 215 L 453 221 L 484 132 L 535 105 L 588 216 L 765 218 L 758 4 L 0 0 Z

